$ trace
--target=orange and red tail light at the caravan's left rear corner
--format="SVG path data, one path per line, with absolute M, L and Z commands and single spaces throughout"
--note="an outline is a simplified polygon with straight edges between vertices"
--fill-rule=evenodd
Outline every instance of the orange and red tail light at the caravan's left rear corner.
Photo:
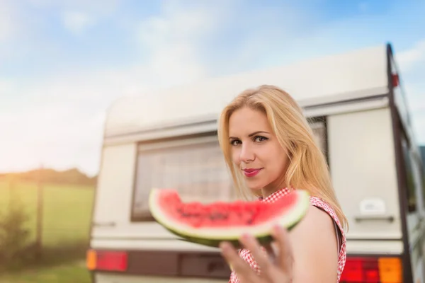
M 112 250 L 89 250 L 86 264 L 89 270 L 123 272 L 128 267 L 128 254 Z

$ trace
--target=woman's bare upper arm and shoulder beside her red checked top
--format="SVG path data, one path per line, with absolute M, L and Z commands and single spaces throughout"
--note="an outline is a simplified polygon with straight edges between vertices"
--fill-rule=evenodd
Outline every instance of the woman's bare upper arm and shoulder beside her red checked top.
M 310 206 L 289 233 L 293 248 L 293 283 L 336 282 L 338 245 L 334 222 L 327 212 Z

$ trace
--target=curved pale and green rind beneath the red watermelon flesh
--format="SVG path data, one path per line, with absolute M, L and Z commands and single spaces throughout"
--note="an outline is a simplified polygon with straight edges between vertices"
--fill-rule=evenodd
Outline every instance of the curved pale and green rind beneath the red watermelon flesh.
M 167 217 L 161 213 L 161 209 L 156 205 L 158 189 L 152 189 L 149 195 L 149 209 L 154 219 L 161 224 L 167 231 L 170 231 L 176 236 L 181 237 L 181 241 L 189 243 L 197 243 L 203 246 L 217 248 L 222 241 L 228 241 L 236 248 L 240 248 L 239 238 L 243 232 L 248 232 L 254 236 L 261 245 L 266 245 L 273 241 L 271 236 L 273 224 L 279 224 L 285 229 L 290 231 L 293 229 L 307 214 L 310 206 L 310 195 L 306 190 L 294 190 L 291 193 L 297 194 L 297 201 L 291 209 L 285 214 L 278 216 L 277 219 L 272 219 L 261 225 L 244 226 L 242 228 L 235 228 L 233 231 L 229 227 L 225 229 L 193 229 L 181 223 L 171 224 L 166 221 Z M 263 227 L 261 227 L 263 226 Z M 261 228 L 261 229 L 260 229 Z

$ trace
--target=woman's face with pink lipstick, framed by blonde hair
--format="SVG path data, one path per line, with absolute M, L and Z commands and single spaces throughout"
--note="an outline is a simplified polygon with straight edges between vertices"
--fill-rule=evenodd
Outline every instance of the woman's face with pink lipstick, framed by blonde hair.
M 286 186 L 288 156 L 259 110 L 241 108 L 229 119 L 232 160 L 242 171 L 251 190 L 262 190 L 266 197 Z

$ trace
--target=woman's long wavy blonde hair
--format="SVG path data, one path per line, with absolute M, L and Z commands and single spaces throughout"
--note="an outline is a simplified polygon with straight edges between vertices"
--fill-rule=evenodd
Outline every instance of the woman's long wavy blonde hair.
M 304 189 L 310 195 L 321 198 L 334 209 L 341 225 L 348 227 L 346 216 L 336 199 L 326 158 L 302 109 L 288 93 L 276 86 L 263 85 L 243 91 L 220 115 L 218 139 L 239 195 L 245 198 L 254 195 L 246 188 L 242 174 L 232 162 L 229 144 L 229 118 L 234 111 L 244 107 L 265 113 L 280 145 L 288 151 L 290 164 L 285 175 L 288 187 Z

